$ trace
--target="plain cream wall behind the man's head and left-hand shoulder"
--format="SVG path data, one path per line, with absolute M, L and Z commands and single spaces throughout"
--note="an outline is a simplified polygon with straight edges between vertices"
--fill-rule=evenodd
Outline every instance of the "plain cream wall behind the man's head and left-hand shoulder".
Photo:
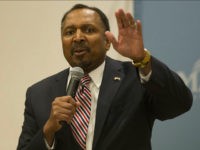
M 95 5 L 109 14 L 132 11 L 132 1 L 0 1 L 0 149 L 16 149 L 23 122 L 25 92 L 31 84 L 68 66 L 61 47 L 60 21 L 75 3 Z M 114 50 L 109 55 L 120 57 Z

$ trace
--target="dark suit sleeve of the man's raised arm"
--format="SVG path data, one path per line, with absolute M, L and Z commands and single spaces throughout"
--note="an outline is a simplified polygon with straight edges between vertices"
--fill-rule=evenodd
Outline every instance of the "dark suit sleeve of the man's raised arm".
M 192 106 L 192 94 L 182 79 L 165 64 L 152 57 L 152 75 L 145 84 L 147 103 L 155 118 L 174 118 Z

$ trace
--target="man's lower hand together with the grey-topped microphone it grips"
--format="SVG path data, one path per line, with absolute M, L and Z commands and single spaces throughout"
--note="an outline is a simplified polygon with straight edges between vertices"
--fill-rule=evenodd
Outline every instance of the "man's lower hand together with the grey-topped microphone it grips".
M 84 76 L 84 72 L 80 67 L 74 67 L 70 70 L 70 74 L 71 78 L 66 91 L 67 96 L 55 98 L 52 102 L 50 117 L 43 128 L 48 143 L 53 141 L 56 131 L 58 131 L 63 125 L 66 125 L 66 123 L 70 123 L 74 113 L 76 112 L 76 108 L 80 106 L 80 103 L 76 102 L 74 98 L 80 79 Z

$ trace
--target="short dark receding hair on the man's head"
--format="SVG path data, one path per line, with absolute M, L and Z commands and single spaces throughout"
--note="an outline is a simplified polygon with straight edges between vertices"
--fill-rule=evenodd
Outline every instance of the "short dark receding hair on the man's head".
M 72 12 L 73 10 L 76 10 L 76 9 L 91 9 L 93 11 L 95 11 L 96 13 L 99 14 L 100 16 L 100 19 L 104 25 L 104 28 L 105 28 L 105 31 L 110 31 L 110 25 L 109 25 L 109 21 L 108 21 L 108 18 L 107 16 L 97 7 L 90 7 L 90 6 L 87 6 L 87 5 L 84 5 L 84 4 L 76 4 L 74 5 L 69 11 L 67 11 L 63 18 L 62 18 L 62 21 L 61 21 L 61 29 L 63 28 L 63 23 L 65 21 L 65 18 L 67 17 L 67 15 Z

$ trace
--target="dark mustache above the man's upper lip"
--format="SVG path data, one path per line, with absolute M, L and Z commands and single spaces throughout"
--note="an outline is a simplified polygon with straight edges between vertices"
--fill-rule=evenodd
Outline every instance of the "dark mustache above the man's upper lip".
M 90 52 L 91 49 L 86 43 L 73 43 L 72 48 L 70 50 L 71 55 L 74 54 L 76 51 L 87 51 Z

